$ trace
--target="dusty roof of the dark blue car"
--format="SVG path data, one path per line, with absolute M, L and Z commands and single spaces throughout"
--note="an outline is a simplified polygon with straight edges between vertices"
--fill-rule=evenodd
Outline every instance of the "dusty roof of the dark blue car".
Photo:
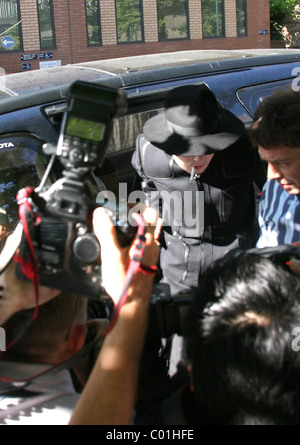
M 2 112 L 66 97 L 76 80 L 107 83 L 117 88 L 193 74 L 242 69 L 300 60 L 300 49 L 194 50 L 98 60 L 0 77 Z

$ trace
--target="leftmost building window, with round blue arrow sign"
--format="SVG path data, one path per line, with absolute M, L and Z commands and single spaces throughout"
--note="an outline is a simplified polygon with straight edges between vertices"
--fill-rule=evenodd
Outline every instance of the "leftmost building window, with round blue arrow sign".
M 22 49 L 18 0 L 0 0 L 0 52 Z

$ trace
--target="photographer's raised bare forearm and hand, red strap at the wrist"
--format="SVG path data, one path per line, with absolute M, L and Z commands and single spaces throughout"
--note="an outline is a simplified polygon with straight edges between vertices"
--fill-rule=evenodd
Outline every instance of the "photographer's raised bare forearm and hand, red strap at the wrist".
M 148 226 L 142 264 L 155 266 L 160 250 L 157 242 L 157 213 L 145 208 L 143 217 Z M 115 227 L 103 208 L 94 212 L 93 222 L 101 244 L 103 284 L 116 302 L 123 289 L 134 241 L 131 246 L 121 249 Z M 153 275 L 138 273 L 132 280 L 128 289 L 129 298 L 120 309 L 113 329 L 105 337 L 70 425 L 130 424 L 136 401 L 139 360 L 147 329 L 153 279 Z

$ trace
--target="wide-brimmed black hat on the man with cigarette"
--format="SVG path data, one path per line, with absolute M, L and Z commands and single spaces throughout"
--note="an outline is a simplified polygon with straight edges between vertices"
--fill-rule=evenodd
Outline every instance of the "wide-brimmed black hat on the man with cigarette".
M 170 155 L 201 156 L 228 148 L 245 126 L 201 84 L 169 91 L 164 111 L 149 119 L 143 131 L 153 145 Z

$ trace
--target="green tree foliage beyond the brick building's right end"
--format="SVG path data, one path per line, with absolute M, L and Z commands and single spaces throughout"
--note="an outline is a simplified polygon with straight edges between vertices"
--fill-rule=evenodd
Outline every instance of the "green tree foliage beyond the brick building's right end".
M 270 0 L 270 31 L 271 40 L 284 41 L 282 28 L 288 17 L 296 17 L 297 0 Z

